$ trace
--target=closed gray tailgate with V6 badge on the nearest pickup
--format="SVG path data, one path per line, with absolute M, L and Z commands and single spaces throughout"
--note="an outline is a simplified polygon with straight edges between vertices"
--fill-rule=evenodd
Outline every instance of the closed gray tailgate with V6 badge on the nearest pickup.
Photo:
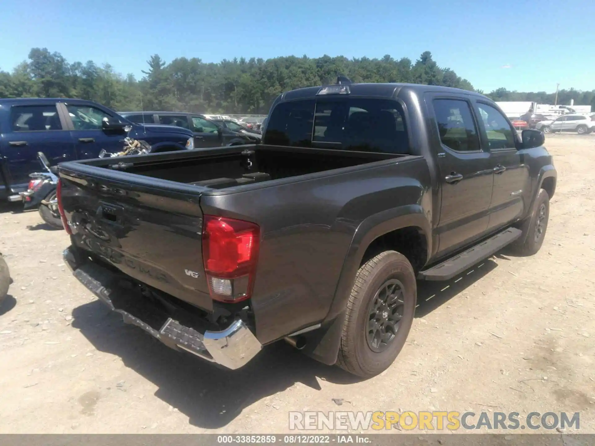
M 60 178 L 76 246 L 140 282 L 212 310 L 199 188 L 78 163 L 62 164 Z

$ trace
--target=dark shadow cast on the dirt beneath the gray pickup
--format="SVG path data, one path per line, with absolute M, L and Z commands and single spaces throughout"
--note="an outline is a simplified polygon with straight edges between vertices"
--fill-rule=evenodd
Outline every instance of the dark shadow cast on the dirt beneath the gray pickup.
M 419 282 L 416 317 L 452 299 L 496 266 L 486 260 L 451 281 Z M 296 382 L 320 390 L 317 378 L 345 385 L 361 380 L 338 367 L 318 363 L 283 342 L 265 347 L 242 369 L 220 369 L 189 353 L 177 353 L 136 326 L 124 324 L 99 301 L 77 307 L 73 316 L 73 327 L 97 350 L 121 357 L 124 365 L 158 387 L 156 397 L 201 428 L 226 426 L 250 404 Z

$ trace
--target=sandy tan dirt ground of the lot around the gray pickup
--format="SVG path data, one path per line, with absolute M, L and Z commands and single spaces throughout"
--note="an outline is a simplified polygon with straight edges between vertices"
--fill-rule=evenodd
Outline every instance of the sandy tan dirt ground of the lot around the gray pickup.
M 367 381 L 285 344 L 234 372 L 176 353 L 71 277 L 64 231 L 4 208 L 14 283 L 0 307 L 0 432 L 281 433 L 289 410 L 398 409 L 580 412 L 595 432 L 595 135 L 547 147 L 559 181 L 541 251 L 419 284 L 408 344 Z

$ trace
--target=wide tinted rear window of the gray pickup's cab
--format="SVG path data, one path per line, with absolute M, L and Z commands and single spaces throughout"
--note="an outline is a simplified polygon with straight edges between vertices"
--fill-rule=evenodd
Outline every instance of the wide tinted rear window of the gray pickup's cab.
M 268 120 L 264 143 L 409 152 L 402 108 L 390 99 L 324 98 L 280 103 Z

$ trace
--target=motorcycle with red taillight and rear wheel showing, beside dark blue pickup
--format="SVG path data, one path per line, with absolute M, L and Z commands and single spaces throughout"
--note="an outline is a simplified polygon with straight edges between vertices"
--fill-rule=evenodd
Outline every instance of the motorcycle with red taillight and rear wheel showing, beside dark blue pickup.
M 45 172 L 29 174 L 31 180 L 26 192 L 21 192 L 23 209 L 32 209 L 39 206 L 39 215 L 54 229 L 64 229 L 58 211 L 58 197 L 56 186 L 58 184 L 57 166 L 50 166 L 48 158 L 43 152 L 37 152 Z

